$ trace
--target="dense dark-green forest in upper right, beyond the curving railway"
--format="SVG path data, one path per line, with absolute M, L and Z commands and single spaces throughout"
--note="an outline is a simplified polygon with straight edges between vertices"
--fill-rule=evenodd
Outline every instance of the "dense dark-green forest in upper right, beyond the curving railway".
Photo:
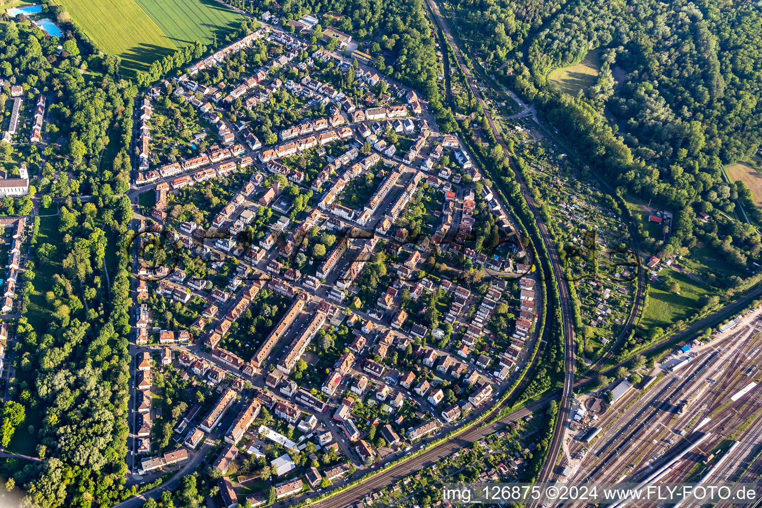
M 472 53 L 523 99 L 534 100 L 540 117 L 574 140 L 592 169 L 621 187 L 620 194 L 675 211 L 668 241 L 641 231 L 646 251 L 664 258 L 702 241 L 737 270 L 752 267 L 762 213 L 743 182 L 728 181 L 724 165 L 751 157 L 762 143 L 759 6 L 725 0 L 533 5 L 527 11 L 525 2 L 458 0 L 453 9 Z M 593 85 L 576 96 L 549 85 L 553 69 L 596 49 L 600 72 Z M 701 221 L 700 212 L 712 221 Z M 732 276 L 718 286 L 739 283 Z

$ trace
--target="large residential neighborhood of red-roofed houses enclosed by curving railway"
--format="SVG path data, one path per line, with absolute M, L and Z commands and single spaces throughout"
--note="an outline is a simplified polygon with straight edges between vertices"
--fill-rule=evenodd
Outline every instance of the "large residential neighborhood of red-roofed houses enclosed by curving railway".
M 284 58 L 198 84 L 252 44 Z M 135 103 L 146 138 L 161 120 L 153 104 L 190 103 L 210 127 L 207 152 L 165 163 L 149 143 L 135 171 L 130 467 L 150 481 L 216 454 L 228 505 L 248 491 L 231 470 L 266 465 L 276 499 L 300 499 L 409 455 L 488 411 L 536 342 L 522 303 L 535 280 L 473 285 L 528 258 L 490 183 L 450 163 L 466 148 L 432 133 L 415 90 L 326 50 L 295 58 L 305 48 L 262 27 Z M 331 69 L 354 72 L 369 106 Z M 272 140 L 233 120 L 270 94 L 306 116 Z M 209 193 L 213 206 L 199 206 Z M 469 247 L 489 235 L 494 256 Z M 177 263 L 155 263 L 174 249 Z

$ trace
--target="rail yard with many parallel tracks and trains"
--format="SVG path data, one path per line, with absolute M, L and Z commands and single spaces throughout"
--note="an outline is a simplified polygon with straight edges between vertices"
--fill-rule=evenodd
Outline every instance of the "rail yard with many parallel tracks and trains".
M 759 481 L 762 318 L 747 321 L 664 359 L 643 388 L 627 390 L 603 414 L 586 414 L 566 439 L 555 481 Z M 575 406 L 595 407 L 595 397 L 581 396 Z

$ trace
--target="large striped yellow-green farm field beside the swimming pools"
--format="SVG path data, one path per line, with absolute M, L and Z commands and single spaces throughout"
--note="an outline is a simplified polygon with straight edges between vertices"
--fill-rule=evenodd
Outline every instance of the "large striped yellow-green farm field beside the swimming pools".
M 105 53 L 120 56 L 132 78 L 156 59 L 200 40 L 218 41 L 242 21 L 213 0 L 60 0 L 85 34 Z

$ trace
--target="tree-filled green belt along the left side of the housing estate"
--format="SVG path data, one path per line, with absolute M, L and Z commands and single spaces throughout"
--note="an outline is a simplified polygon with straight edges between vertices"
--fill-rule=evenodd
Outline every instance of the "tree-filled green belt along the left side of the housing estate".
M 110 505 L 134 494 L 124 487 L 131 303 L 119 244 L 132 207 L 119 194 L 129 187 L 137 88 L 119 78 L 118 59 L 96 52 L 76 30 L 64 40 L 34 24 L 10 21 L 0 30 L 6 86 L 21 85 L 30 100 L 37 91 L 50 97 L 45 125 L 53 142 L 42 151 L 19 145 L 14 161 L 42 174 L 35 184 L 46 194 L 43 206 L 50 196 L 64 198 L 58 217 L 30 224 L 9 380 L 14 401 L 3 410 L 3 445 L 20 439 L 41 460 L 5 461 L 3 475 L 35 506 Z M 7 88 L 0 109 L 10 104 L 6 97 Z M 99 168 L 107 146 L 113 155 Z M 82 203 L 72 194 L 93 197 Z

